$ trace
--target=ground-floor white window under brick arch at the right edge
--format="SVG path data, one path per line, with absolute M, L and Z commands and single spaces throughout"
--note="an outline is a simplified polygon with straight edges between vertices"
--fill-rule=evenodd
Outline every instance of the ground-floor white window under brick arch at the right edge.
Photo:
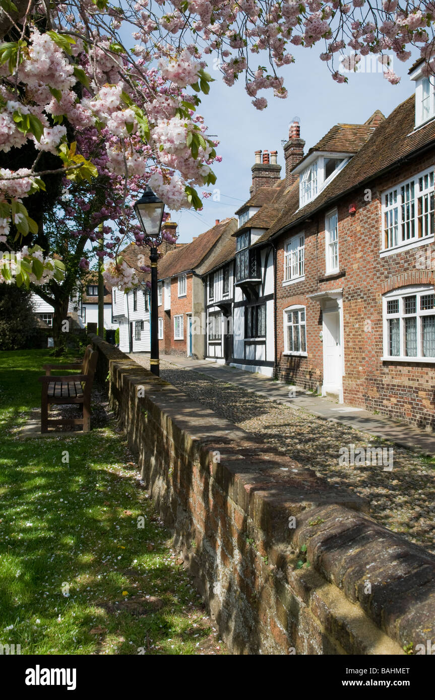
M 394 289 L 391 292 L 387 292 L 382 297 L 382 326 L 383 326 L 383 356 L 382 361 L 384 362 L 407 362 L 407 363 L 434 363 L 434 357 L 424 357 L 422 354 L 422 317 L 423 316 L 435 316 L 435 309 L 427 309 L 422 311 L 420 309 L 420 298 L 425 295 L 435 294 L 434 286 L 430 284 L 420 284 L 417 286 L 400 287 Z M 416 312 L 415 314 L 405 314 L 404 313 L 404 297 L 416 296 Z M 387 314 L 387 302 L 399 300 L 399 312 L 393 314 Z M 405 318 L 417 318 L 417 355 L 406 355 L 405 354 L 405 335 L 404 335 L 404 319 Z M 389 355 L 389 332 L 388 332 L 388 321 L 392 318 L 399 318 L 399 355 Z

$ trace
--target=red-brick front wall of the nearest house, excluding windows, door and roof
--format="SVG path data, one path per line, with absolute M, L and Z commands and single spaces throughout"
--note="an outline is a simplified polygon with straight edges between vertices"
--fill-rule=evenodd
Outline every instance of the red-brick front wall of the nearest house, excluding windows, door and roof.
M 422 251 L 434 260 L 434 244 L 380 257 L 382 191 L 434 165 L 434 152 L 410 160 L 367 188 L 338 200 L 340 272 L 325 277 L 326 207 L 277 240 L 277 377 L 305 388 L 322 385 L 322 309 L 308 295 L 343 289 L 343 400 L 421 426 L 435 427 L 435 363 L 382 360 L 382 295 L 390 290 L 435 282 L 432 269 L 420 269 Z M 368 201 L 366 201 L 368 200 Z M 356 212 L 350 214 L 350 205 Z M 305 279 L 283 286 L 284 244 L 305 232 Z M 429 254 L 428 254 L 429 253 Z M 429 266 L 427 266 L 429 267 Z M 283 310 L 306 307 L 308 357 L 284 356 Z

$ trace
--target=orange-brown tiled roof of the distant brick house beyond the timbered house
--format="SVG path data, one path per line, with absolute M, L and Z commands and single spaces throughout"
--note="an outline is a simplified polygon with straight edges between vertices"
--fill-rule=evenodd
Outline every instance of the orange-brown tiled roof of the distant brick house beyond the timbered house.
M 212 251 L 213 246 L 219 241 L 221 236 L 228 232 L 228 228 L 232 233 L 235 225 L 235 218 L 223 219 L 219 224 L 202 233 L 188 245 L 167 253 L 158 262 L 158 279 L 165 279 L 198 267 L 205 256 Z

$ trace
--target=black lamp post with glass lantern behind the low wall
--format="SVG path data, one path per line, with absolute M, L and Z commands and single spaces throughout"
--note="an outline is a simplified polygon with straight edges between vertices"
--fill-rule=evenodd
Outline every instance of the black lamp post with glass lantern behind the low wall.
M 146 187 L 140 200 L 134 204 L 134 212 L 144 230 L 146 238 L 153 241 L 150 248 L 149 259 L 151 261 L 151 357 L 150 369 L 156 377 L 160 376 L 158 360 L 158 300 L 157 300 L 157 261 L 158 252 L 156 241 L 160 235 L 163 210 L 165 204 L 153 193 L 150 187 Z

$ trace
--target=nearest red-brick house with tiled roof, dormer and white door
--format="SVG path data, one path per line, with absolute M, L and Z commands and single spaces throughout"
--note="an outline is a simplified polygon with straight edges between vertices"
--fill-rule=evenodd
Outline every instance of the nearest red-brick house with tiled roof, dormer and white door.
M 411 77 L 416 96 L 389 118 L 333 127 L 289 169 L 267 235 L 277 377 L 433 428 L 435 104 Z

